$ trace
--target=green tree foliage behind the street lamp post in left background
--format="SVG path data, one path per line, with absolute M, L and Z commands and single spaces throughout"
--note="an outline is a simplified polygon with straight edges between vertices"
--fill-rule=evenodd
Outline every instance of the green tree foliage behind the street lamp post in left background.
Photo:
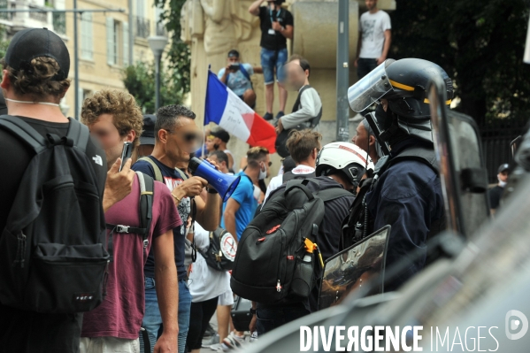
M 183 94 L 176 87 L 173 77 L 166 75 L 164 68 L 160 72 L 160 104 L 181 104 Z M 137 62 L 127 66 L 123 74 L 123 83 L 136 103 L 146 114 L 155 112 L 155 65 Z

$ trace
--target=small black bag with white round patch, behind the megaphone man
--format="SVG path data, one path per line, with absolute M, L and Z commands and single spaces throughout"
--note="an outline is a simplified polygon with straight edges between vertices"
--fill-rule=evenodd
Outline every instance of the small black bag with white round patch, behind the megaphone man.
M 234 266 L 236 242 L 232 234 L 225 229 L 217 228 L 210 232 L 210 246 L 205 252 L 200 251 L 206 264 L 217 271 L 230 271 Z

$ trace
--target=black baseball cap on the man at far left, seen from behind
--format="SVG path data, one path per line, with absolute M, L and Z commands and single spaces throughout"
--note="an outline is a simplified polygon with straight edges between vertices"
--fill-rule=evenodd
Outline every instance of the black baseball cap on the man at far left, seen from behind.
M 70 71 L 70 53 L 65 42 L 48 28 L 27 28 L 17 32 L 5 52 L 5 63 L 15 70 L 27 67 L 38 57 L 53 58 L 58 62 L 59 72 L 53 80 L 62 81 Z

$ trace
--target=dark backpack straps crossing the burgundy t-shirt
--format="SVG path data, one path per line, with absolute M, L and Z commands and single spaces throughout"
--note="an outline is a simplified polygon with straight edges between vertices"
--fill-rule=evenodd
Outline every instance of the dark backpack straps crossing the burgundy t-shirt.
M 140 203 L 138 214 L 140 215 L 140 227 L 125 226 L 125 225 L 112 225 L 106 223 L 107 229 L 111 230 L 107 238 L 107 250 L 111 255 L 111 261 L 113 260 L 114 247 L 112 237 L 114 233 L 126 233 L 126 234 L 140 234 L 142 235 L 143 249 L 147 249 L 149 245 L 148 237 L 151 229 L 151 223 L 153 220 L 153 198 L 155 197 L 155 180 L 149 175 L 142 172 L 136 172 L 138 176 L 138 186 L 140 188 Z M 144 257 L 148 256 L 148 253 L 144 251 Z

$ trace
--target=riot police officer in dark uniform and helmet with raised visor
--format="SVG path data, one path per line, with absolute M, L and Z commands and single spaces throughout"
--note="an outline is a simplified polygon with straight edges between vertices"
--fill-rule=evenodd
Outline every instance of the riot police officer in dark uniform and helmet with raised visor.
M 385 291 L 396 289 L 426 265 L 426 242 L 445 227 L 426 92 L 435 75 L 442 75 L 446 104 L 450 104 L 453 86 L 447 73 L 439 65 L 417 58 L 388 59 L 349 88 L 354 111 L 378 104 L 366 119 L 373 120 L 378 130 L 374 134 L 390 148 L 388 157 L 376 165 L 375 181 L 365 194 L 364 211 L 370 220 L 365 222 L 369 230 L 361 235 L 391 226 L 387 269 L 398 263 L 403 267 L 386 283 Z M 363 220 L 357 219 L 359 223 Z

